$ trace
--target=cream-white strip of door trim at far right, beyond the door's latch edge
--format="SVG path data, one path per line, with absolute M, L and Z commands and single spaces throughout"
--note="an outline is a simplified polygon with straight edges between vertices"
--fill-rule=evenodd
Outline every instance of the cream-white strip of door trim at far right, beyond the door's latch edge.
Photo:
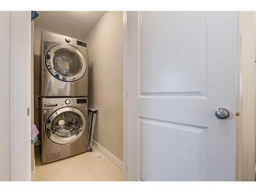
M 237 72 L 237 181 L 255 180 L 254 12 L 239 12 L 240 44 Z

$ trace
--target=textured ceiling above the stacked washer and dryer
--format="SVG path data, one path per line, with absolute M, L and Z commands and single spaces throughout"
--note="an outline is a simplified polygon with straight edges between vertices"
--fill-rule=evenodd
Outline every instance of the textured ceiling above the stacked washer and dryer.
M 35 27 L 83 39 L 105 11 L 37 11 Z

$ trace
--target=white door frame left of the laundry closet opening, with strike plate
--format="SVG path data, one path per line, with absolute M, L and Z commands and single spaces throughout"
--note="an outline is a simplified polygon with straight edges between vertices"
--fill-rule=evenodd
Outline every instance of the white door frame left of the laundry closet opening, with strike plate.
M 11 181 L 31 181 L 31 12 L 11 12 Z

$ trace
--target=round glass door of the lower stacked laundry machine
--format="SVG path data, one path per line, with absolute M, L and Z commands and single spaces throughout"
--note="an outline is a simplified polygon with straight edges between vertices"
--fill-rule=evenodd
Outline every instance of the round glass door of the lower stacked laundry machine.
M 86 129 L 86 117 L 73 107 L 55 111 L 46 122 L 46 134 L 58 144 L 68 144 L 77 140 Z

